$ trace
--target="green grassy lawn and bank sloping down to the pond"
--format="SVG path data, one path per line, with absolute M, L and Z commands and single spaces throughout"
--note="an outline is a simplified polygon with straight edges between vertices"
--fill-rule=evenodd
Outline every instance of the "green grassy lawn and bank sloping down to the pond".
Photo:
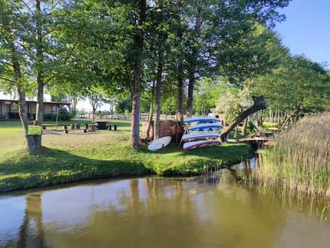
M 251 156 L 250 146 L 241 143 L 190 151 L 175 143 L 159 152 L 148 151 L 146 145 L 133 149 L 128 145 L 130 123 L 110 123 L 118 130 L 43 134 L 43 148 L 29 155 L 23 151 L 21 123 L 0 121 L 0 192 L 111 176 L 198 175 Z

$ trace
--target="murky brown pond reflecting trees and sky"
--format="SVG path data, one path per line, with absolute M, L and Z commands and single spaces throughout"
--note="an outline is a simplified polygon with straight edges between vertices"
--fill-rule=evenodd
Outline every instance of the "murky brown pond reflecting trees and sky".
M 97 180 L 1 195 L 0 247 L 329 247 L 330 211 L 315 209 L 241 187 L 229 169 Z

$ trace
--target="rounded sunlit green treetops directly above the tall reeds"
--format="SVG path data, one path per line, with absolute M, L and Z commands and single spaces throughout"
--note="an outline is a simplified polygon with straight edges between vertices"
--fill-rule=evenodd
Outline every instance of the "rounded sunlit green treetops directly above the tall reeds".
M 281 112 L 303 113 L 329 110 L 330 77 L 320 65 L 304 56 L 283 56 L 277 68 L 250 82 L 255 94 Z

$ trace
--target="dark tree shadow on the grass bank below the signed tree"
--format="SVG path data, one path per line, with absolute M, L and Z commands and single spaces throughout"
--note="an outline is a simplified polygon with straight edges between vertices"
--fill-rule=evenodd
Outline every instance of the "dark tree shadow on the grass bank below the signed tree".
M 96 178 L 153 174 L 142 163 L 102 161 L 47 147 L 34 154 L 21 153 L 14 161 L 4 161 L 0 171 L 0 192 Z

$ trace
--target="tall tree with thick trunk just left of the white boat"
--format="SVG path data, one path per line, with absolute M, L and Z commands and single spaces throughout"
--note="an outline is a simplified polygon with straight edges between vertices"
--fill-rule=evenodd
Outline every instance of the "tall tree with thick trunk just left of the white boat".
M 88 68 L 89 76 L 109 92 L 128 91 L 131 96 L 131 145 L 140 146 L 140 96 L 142 87 L 142 61 L 146 36 L 146 0 L 94 1 L 80 3 L 80 14 L 89 21 L 77 54 L 78 68 Z M 93 51 L 93 52 L 92 52 Z M 88 82 L 88 80 L 87 80 Z

